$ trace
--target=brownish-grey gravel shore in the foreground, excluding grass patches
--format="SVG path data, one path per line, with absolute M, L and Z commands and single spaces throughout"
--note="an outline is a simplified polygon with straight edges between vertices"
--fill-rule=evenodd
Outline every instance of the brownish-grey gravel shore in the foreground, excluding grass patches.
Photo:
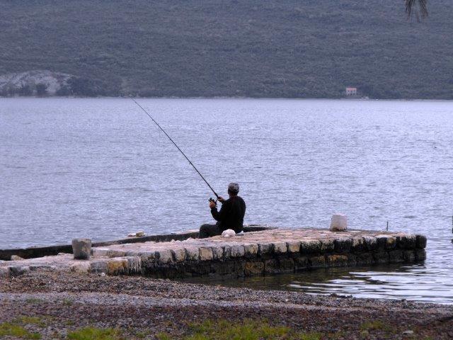
M 66 339 L 69 331 L 88 326 L 120 329 L 124 339 L 158 339 L 159 333 L 183 339 L 191 334 L 190 324 L 206 319 L 268 320 L 275 326 L 316 332 L 317 339 L 453 339 L 453 306 L 139 276 L 40 271 L 0 279 L 0 331 L 1 323 L 22 320 L 27 331 L 42 339 Z

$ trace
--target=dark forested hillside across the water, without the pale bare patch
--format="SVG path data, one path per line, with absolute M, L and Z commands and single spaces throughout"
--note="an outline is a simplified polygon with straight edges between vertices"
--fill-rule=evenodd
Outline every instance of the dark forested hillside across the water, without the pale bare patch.
M 0 76 L 69 74 L 60 94 L 93 96 L 453 98 L 453 3 L 429 6 L 418 23 L 402 0 L 0 0 Z

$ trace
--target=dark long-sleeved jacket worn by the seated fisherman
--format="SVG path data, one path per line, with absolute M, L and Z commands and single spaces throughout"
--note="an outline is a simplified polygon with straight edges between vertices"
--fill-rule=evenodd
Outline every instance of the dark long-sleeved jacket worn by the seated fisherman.
M 230 197 L 222 204 L 220 211 L 217 207 L 211 209 L 212 217 L 218 221 L 222 231 L 233 229 L 235 232 L 241 232 L 243 227 L 243 216 L 246 215 L 246 203 L 239 196 Z

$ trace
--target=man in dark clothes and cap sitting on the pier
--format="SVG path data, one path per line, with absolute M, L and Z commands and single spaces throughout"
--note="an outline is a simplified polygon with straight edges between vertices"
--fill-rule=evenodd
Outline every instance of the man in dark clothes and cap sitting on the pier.
M 233 229 L 236 234 L 242 232 L 246 203 L 238 196 L 238 193 L 239 184 L 229 183 L 229 199 L 224 200 L 220 196 L 218 198 L 219 202 L 222 203 L 220 211 L 217 211 L 217 206 L 214 202 L 210 202 L 211 214 L 217 223 L 215 225 L 202 225 L 200 227 L 200 239 L 221 235 L 226 229 Z

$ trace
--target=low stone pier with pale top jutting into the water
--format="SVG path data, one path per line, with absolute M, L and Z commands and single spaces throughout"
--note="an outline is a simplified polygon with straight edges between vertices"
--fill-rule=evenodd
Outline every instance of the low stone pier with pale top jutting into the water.
M 154 278 L 256 276 L 310 268 L 414 263 L 426 237 L 398 232 L 268 229 L 231 238 L 185 239 L 93 247 L 91 259 L 69 254 L 0 263 L 1 276 L 40 268 Z

